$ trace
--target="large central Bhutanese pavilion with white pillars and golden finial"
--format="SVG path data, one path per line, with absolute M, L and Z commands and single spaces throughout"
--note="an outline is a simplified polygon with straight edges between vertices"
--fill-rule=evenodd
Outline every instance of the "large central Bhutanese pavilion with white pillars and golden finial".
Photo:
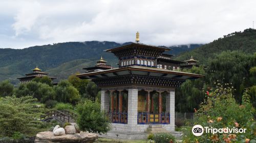
M 112 130 L 104 137 L 146 138 L 147 133 L 175 134 L 175 88 L 203 75 L 179 71 L 181 61 L 163 54 L 170 49 L 138 43 L 105 50 L 119 67 L 79 74 L 101 88 L 101 109 L 109 114 Z M 87 68 L 88 69 L 88 68 Z M 185 103 L 184 103 L 185 104 Z

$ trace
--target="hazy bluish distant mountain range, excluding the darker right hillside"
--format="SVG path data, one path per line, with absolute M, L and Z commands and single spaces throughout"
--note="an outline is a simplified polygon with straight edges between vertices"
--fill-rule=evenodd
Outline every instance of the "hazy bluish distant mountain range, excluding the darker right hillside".
M 59 79 L 69 75 L 81 73 L 82 67 L 93 66 L 102 56 L 108 64 L 117 66 L 117 58 L 104 50 L 129 44 L 109 41 L 65 42 L 33 46 L 26 49 L 0 49 L 0 81 L 9 79 L 18 83 L 16 78 L 31 73 L 31 69 L 38 66 L 50 76 Z M 170 54 L 179 54 L 199 47 L 199 44 L 172 46 Z

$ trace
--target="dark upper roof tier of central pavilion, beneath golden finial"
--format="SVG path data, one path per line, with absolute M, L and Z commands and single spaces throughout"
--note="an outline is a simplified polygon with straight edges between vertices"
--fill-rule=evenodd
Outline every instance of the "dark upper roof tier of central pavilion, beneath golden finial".
M 131 43 L 105 50 L 106 52 L 114 53 L 119 59 L 129 56 L 146 56 L 157 58 L 163 52 L 170 51 L 167 47 L 159 47 L 154 45 L 146 45 L 142 43 Z

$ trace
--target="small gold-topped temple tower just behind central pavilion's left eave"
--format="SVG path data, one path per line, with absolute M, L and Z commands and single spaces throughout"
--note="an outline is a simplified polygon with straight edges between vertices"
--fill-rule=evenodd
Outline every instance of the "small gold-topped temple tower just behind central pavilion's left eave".
M 97 64 L 95 66 L 82 69 L 86 69 L 86 73 L 91 73 L 93 71 L 102 71 L 113 68 L 111 65 L 107 65 L 106 62 L 107 61 L 105 61 L 101 56 L 101 58 L 97 61 Z

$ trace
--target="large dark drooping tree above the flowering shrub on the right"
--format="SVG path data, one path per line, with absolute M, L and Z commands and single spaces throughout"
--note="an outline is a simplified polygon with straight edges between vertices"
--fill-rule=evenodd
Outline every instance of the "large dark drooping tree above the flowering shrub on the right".
M 232 84 L 236 89 L 234 97 L 241 102 L 240 95 L 244 92 L 245 87 L 251 86 L 249 69 L 255 66 L 253 62 L 255 57 L 239 51 L 222 52 L 209 62 L 206 82 L 210 85 L 217 81 Z

